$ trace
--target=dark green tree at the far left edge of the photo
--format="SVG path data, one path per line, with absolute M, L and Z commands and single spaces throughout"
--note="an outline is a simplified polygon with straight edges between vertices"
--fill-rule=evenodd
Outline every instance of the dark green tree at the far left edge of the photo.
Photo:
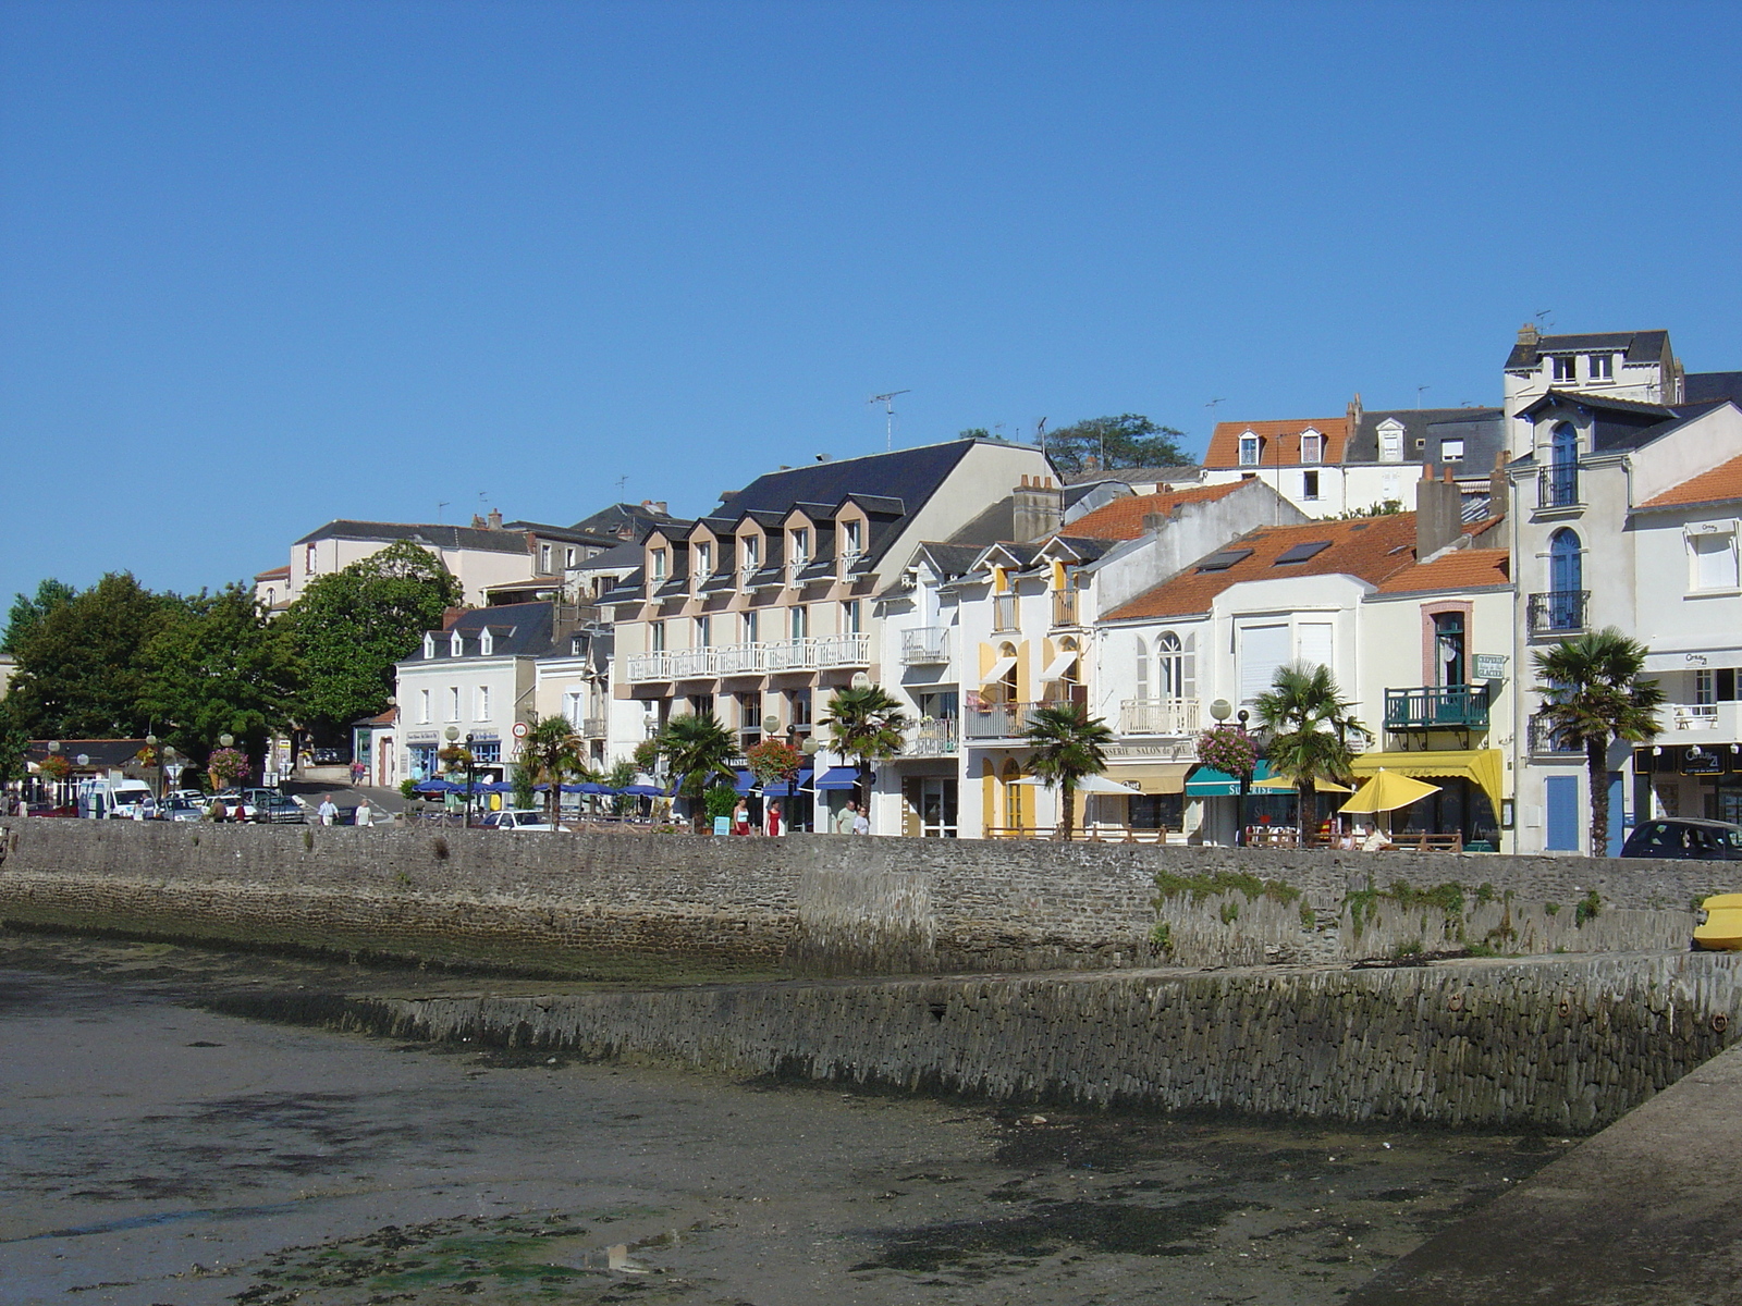
M 143 650 L 183 609 L 120 571 L 51 608 L 19 639 L 9 702 L 37 738 L 146 733 Z

